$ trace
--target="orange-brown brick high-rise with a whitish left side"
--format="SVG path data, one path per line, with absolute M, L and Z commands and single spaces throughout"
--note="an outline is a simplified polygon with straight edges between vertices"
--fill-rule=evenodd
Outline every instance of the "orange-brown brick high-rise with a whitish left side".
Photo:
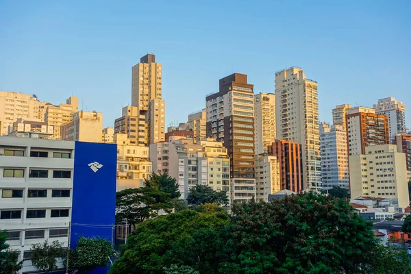
M 373 108 L 350 108 L 346 119 L 349 155 L 364 154 L 366 146 L 390 142 L 388 118 L 375 114 Z

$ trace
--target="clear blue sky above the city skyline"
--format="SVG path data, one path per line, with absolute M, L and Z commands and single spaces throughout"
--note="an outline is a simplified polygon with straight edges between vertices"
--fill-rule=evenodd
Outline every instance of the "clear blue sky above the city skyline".
M 300 66 L 319 82 L 321 121 L 335 105 L 395 97 L 411 127 L 411 1 L 0 0 L 0 90 L 103 112 L 131 103 L 132 66 L 163 66 L 166 124 L 204 108 L 231 73 L 255 92 Z

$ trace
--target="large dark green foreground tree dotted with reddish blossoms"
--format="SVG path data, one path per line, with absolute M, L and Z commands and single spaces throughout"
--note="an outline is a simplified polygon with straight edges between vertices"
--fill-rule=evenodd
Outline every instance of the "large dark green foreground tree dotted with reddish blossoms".
M 227 242 L 237 273 L 358 273 L 377 245 L 372 224 L 348 201 L 314 192 L 236 204 L 232 214 Z

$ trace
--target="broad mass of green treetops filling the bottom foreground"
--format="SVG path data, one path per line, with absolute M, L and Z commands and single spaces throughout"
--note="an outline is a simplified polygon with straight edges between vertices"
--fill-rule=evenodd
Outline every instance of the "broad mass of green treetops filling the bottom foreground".
M 347 200 L 314 192 L 212 203 L 144 221 L 110 274 L 411 273 L 406 249 L 381 245 Z

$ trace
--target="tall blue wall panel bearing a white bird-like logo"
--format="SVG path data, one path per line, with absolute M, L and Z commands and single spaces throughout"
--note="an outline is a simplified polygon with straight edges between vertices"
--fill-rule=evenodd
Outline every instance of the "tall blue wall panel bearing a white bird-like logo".
M 99 236 L 110 241 L 114 237 L 116 161 L 117 145 L 75 142 L 70 240 L 72 248 L 81 236 Z M 106 272 L 106 269 L 93 271 Z

